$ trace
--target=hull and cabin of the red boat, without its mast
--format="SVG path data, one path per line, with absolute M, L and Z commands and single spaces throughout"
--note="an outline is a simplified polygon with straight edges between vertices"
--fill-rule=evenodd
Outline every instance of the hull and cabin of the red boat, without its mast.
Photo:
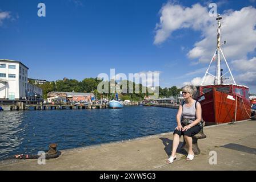
M 196 97 L 206 125 L 250 119 L 248 90 L 246 86 L 233 84 L 199 86 Z

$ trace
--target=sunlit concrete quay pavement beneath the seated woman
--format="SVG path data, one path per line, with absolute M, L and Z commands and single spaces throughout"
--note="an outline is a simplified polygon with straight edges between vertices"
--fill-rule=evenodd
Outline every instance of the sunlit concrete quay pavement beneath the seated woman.
M 63 151 L 57 159 L 39 165 L 37 159 L 1 164 L 0 170 L 256 170 L 256 121 L 205 127 L 206 139 L 198 140 L 201 154 L 186 161 L 184 154 L 167 164 L 172 133 Z M 181 138 L 180 146 L 183 138 Z M 209 153 L 217 154 L 217 164 Z M 215 158 L 216 159 L 216 158 Z M 210 160 L 211 162 L 213 160 Z

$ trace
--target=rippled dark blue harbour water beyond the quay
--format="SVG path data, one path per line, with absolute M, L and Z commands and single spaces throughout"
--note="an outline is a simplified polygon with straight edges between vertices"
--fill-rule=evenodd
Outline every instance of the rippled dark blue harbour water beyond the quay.
M 0 112 L 0 159 L 37 154 L 50 143 L 58 150 L 117 142 L 174 131 L 176 109 L 125 106 L 123 109 Z

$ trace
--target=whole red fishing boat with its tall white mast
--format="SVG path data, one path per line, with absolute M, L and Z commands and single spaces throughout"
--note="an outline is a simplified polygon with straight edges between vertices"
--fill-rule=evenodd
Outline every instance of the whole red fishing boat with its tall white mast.
M 201 103 L 202 118 L 206 125 L 218 125 L 220 123 L 242 121 L 250 119 L 251 105 L 249 99 L 249 88 L 237 85 L 227 64 L 226 58 L 221 49 L 221 19 L 218 15 L 217 48 L 211 59 L 210 65 L 203 77 L 203 81 L 198 86 L 195 98 Z M 223 44 L 225 44 L 224 42 Z M 230 73 L 232 83 L 225 84 L 224 78 L 227 73 L 222 74 L 221 61 L 225 61 L 227 73 Z M 209 73 L 211 64 L 216 60 L 216 75 Z M 208 77 L 207 77 L 208 76 Z M 209 76 L 214 77 L 212 85 L 205 84 Z

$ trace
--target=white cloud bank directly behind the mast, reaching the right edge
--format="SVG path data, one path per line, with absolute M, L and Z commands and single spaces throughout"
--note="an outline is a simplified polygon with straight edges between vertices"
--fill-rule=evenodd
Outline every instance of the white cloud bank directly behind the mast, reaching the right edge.
M 256 48 L 256 9 L 243 7 L 239 11 L 226 11 L 222 16 L 222 40 L 227 42 L 223 48 L 226 59 L 246 59 L 247 53 Z M 202 63 L 209 62 L 215 51 L 216 30 L 216 26 L 202 27 L 204 38 L 195 43 L 187 56 Z

